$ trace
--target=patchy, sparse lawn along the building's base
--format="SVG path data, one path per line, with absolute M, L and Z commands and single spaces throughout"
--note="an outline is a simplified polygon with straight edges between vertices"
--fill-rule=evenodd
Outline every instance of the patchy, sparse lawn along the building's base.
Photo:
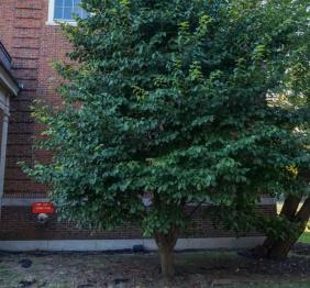
M 177 276 L 158 274 L 156 253 L 0 254 L 0 287 L 310 287 L 310 245 L 284 262 L 257 261 L 235 251 L 176 253 Z

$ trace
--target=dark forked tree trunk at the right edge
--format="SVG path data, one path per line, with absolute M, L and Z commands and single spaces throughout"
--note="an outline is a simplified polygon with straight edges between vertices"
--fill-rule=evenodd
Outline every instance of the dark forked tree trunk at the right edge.
M 298 231 L 296 231 L 296 235 L 286 240 L 267 237 L 262 246 L 257 246 L 253 250 L 254 256 L 268 257 L 273 259 L 287 257 L 294 244 L 303 233 L 310 217 L 310 198 L 305 201 L 299 212 L 297 212 L 299 202 L 300 198 L 288 196 L 280 212 L 280 215 L 287 218 L 287 220 L 299 226 Z

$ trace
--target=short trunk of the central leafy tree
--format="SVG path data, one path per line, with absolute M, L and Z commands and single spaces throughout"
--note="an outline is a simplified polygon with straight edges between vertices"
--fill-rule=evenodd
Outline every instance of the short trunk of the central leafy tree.
M 165 278 L 171 278 L 175 275 L 174 247 L 177 243 L 176 229 L 169 231 L 168 234 L 155 233 L 155 241 L 159 250 L 162 275 Z

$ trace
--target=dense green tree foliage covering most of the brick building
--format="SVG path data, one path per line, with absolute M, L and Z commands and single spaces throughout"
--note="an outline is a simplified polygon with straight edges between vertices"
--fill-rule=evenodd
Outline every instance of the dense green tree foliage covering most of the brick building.
M 214 203 L 240 230 L 262 195 L 308 192 L 307 5 L 82 1 L 91 16 L 63 25 L 77 63 L 57 65 L 64 106 L 34 110 L 53 160 L 25 169 L 64 218 L 95 230 L 132 221 L 159 247 L 174 246 L 189 202 Z M 283 95 L 302 106 L 277 104 Z

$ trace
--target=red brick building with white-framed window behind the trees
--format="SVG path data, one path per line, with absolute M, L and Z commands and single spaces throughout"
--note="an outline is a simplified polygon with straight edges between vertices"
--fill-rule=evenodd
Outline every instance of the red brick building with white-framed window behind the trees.
M 32 149 L 33 137 L 38 133 L 40 126 L 31 119 L 30 107 L 34 99 L 42 99 L 51 106 L 60 103 L 55 93 L 59 79 L 52 64 L 56 59 L 64 59 L 69 45 L 55 20 L 73 22 L 73 11 L 84 16 L 78 2 L 79 0 L 0 1 L 0 41 L 12 58 L 8 57 L 7 70 L 21 88 L 16 97 L 11 97 L 4 193 L 1 197 L 0 250 L 114 250 L 130 248 L 133 244 L 155 247 L 154 242 L 143 240 L 140 230 L 133 225 L 92 234 L 57 222 L 56 215 L 52 215 L 42 225 L 31 211 L 34 202 L 48 201 L 46 188 L 29 179 L 18 162 L 31 163 L 35 158 L 44 160 L 48 155 Z M 2 123 L 2 118 L 0 120 Z M 259 209 L 274 213 L 273 199 L 263 199 Z M 213 230 L 208 221 L 201 220 L 201 212 L 197 212 L 195 225 L 181 235 L 177 247 L 246 246 L 261 241 L 262 235 L 257 233 L 236 240 L 231 232 Z

